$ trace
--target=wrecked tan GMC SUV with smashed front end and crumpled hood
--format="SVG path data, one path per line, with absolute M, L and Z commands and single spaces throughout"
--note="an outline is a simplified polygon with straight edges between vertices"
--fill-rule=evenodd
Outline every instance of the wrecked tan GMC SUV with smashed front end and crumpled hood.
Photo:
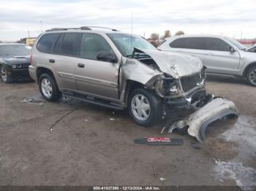
M 127 108 L 143 126 L 157 122 L 167 107 L 190 109 L 206 100 L 199 58 L 159 51 L 140 36 L 92 28 L 53 28 L 37 39 L 29 73 L 46 100 L 57 101 L 62 94 Z

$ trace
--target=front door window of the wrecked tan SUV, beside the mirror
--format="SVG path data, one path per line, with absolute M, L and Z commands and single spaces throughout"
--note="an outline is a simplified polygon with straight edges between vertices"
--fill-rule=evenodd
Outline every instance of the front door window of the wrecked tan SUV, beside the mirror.
M 97 60 L 99 52 L 113 52 L 110 45 L 99 34 L 83 34 L 80 44 L 80 57 Z

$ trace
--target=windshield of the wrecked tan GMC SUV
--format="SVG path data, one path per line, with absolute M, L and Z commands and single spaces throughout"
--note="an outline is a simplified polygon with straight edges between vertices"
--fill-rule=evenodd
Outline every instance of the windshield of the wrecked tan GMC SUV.
M 130 57 L 134 47 L 138 49 L 157 50 L 152 44 L 140 36 L 130 34 L 108 34 L 122 55 Z

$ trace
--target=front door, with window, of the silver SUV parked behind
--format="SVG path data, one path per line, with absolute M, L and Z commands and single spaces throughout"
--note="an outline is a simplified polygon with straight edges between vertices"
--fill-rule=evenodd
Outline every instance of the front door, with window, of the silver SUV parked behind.
M 240 62 L 238 51 L 230 52 L 230 44 L 219 38 L 206 38 L 205 65 L 216 74 L 236 74 Z

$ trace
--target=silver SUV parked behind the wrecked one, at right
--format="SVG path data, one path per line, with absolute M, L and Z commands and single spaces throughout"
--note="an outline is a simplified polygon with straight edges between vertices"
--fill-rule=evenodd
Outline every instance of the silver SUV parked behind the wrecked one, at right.
M 256 86 L 256 54 L 225 36 L 181 35 L 165 39 L 159 50 L 179 52 L 200 58 L 211 74 L 245 77 Z

